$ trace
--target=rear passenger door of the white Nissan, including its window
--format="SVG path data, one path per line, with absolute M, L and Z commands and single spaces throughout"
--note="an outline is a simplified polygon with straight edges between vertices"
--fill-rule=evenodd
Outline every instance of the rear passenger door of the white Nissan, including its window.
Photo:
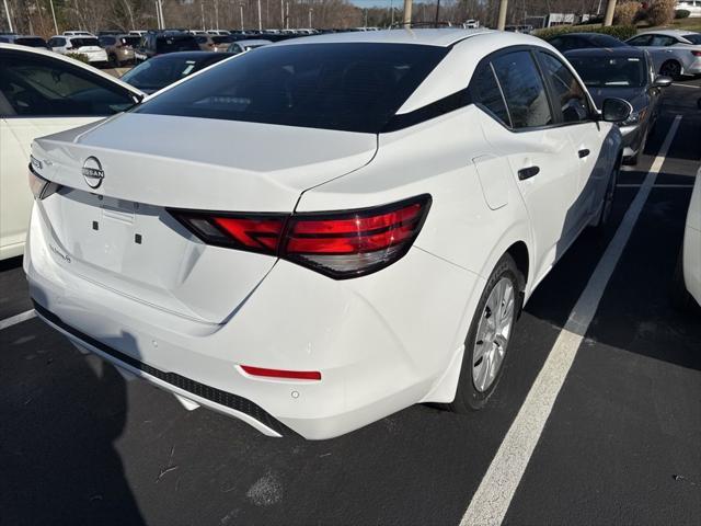
M 558 127 L 533 52 L 505 50 L 490 58 L 508 122 L 483 118 L 484 135 L 508 160 L 530 216 L 535 275 L 540 281 L 571 242 L 578 167 L 566 132 Z

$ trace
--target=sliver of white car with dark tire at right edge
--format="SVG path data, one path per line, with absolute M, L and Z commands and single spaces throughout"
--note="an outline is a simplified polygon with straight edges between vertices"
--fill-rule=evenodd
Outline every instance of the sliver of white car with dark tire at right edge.
M 671 299 L 676 307 L 682 309 L 689 308 L 692 301 L 701 305 L 701 168 L 689 202 L 683 242 L 673 278 Z

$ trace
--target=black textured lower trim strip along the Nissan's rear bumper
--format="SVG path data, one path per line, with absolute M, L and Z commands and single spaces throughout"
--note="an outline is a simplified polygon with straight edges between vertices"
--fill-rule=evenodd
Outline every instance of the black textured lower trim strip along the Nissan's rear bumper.
M 34 309 L 41 318 L 50 322 L 51 324 L 58 327 L 64 330 L 68 334 L 73 338 L 84 342 L 87 345 L 95 347 L 102 353 L 111 356 L 116 362 L 120 362 L 122 364 L 128 365 L 131 368 L 140 370 L 147 377 L 157 378 L 163 382 L 170 384 L 177 389 L 183 391 L 187 391 L 193 393 L 196 397 L 203 398 L 210 402 L 214 402 L 219 405 L 223 405 L 226 408 L 232 409 L 240 413 L 246 414 L 252 419 L 258 421 L 261 424 L 269 427 L 275 431 L 279 435 L 283 436 L 299 436 L 292 430 L 287 427 L 280 421 L 272 416 L 267 413 L 263 408 L 253 403 L 251 400 L 248 400 L 238 395 L 233 395 L 231 392 L 222 391 L 221 389 L 217 389 L 215 387 L 206 386 L 205 384 L 200 384 L 193 379 L 186 378 L 175 373 L 164 373 L 156 367 L 152 367 L 143 362 L 139 362 L 131 356 L 128 356 L 119 351 L 116 351 L 108 345 L 95 340 L 94 338 L 89 336 L 80 332 L 79 330 L 68 325 L 65 323 L 58 316 L 47 310 L 45 307 L 41 306 L 36 300 L 32 298 L 32 302 L 34 304 Z M 119 365 L 119 364 L 117 364 Z

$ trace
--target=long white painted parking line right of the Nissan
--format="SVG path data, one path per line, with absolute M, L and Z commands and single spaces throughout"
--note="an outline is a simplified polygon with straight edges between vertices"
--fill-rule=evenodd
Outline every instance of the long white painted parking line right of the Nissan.
M 472 501 L 460 522 L 461 526 L 502 524 L 540 439 L 558 393 L 572 367 L 579 344 L 594 319 L 604 290 L 655 184 L 655 178 L 665 161 L 667 151 L 669 151 L 669 145 L 677 133 L 680 121 L 681 116 L 677 115 L 659 153 L 647 172 L 645 182 L 628 208 L 613 239 L 570 312 L 570 318 L 553 344 L 543 368 L 538 374 L 478 491 L 472 496 Z

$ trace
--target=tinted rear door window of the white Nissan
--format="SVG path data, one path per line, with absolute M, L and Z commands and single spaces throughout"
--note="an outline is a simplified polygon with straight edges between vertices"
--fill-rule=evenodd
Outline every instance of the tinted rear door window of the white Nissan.
M 552 124 L 543 79 L 529 52 L 514 52 L 492 61 L 514 128 Z

